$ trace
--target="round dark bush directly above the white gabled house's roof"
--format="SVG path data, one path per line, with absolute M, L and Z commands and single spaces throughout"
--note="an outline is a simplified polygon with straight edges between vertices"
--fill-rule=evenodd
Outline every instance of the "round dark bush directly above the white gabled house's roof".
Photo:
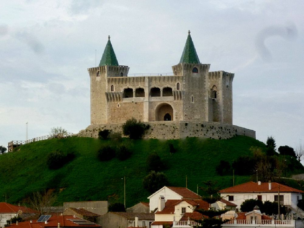
M 147 189 L 150 193 L 153 193 L 168 184 L 169 181 L 166 175 L 164 173 L 156 173 L 155 171 L 151 171 L 143 179 L 143 187 Z

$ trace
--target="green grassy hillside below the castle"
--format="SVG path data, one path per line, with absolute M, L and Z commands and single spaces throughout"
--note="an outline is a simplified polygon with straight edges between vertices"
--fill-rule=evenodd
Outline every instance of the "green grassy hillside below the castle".
M 125 161 L 114 158 L 101 162 L 97 159 L 98 149 L 105 145 L 116 145 L 115 140 L 71 137 L 33 142 L 18 147 L 12 153 L 0 156 L 0 202 L 18 203 L 34 191 L 55 189 L 57 204 L 67 201 L 107 200 L 123 203 L 123 178 L 126 177 L 126 206 L 147 201 L 150 195 L 143 189 L 142 181 L 147 175 L 146 159 L 157 152 L 167 165 L 164 173 L 171 186 L 185 187 L 197 191 L 203 181 L 215 180 L 219 188 L 232 186 L 231 176 L 218 176 L 215 167 L 220 160 L 229 161 L 241 155 L 249 155 L 251 146 L 264 148 L 264 143 L 246 136 L 227 140 L 187 138 L 180 140 L 130 140 L 121 142 L 132 150 Z M 172 143 L 176 153 L 169 153 Z M 73 161 L 58 170 L 47 167 L 47 154 L 61 150 L 74 151 Z M 299 172 L 303 172 L 299 170 Z M 249 181 L 248 176 L 236 176 L 235 184 Z M 201 194 L 201 190 L 198 192 Z

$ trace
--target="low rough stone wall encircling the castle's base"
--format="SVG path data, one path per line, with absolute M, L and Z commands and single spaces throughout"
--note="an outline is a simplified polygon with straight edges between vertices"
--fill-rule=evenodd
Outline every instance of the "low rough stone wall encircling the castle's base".
M 144 123 L 150 125 L 150 129 L 144 135 L 145 139 L 180 139 L 186 137 L 229 139 L 236 135 L 246 135 L 255 139 L 254 130 L 218 122 L 152 121 Z M 122 125 L 89 125 L 86 129 L 81 130 L 78 136 L 98 138 L 98 132 L 105 129 L 122 133 Z

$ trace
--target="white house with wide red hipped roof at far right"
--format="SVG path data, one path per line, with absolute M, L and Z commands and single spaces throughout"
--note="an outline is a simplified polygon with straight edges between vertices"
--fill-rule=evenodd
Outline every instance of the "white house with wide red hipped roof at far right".
M 298 201 L 302 199 L 302 193 L 304 192 L 276 182 L 261 183 L 261 181 L 258 181 L 258 183 L 255 183 L 250 181 L 234 187 L 225 188 L 220 190 L 219 193 L 223 199 L 236 204 L 237 208 L 240 208 L 240 205 L 246 199 L 257 199 L 262 202 L 280 201 L 283 205 L 297 208 Z

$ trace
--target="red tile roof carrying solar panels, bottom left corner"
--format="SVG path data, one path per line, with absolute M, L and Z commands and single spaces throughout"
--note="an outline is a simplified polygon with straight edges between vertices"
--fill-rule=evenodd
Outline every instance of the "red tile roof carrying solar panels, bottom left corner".
M 12 224 L 10 227 L 14 228 L 54 228 L 58 226 L 58 223 L 60 223 L 60 227 L 75 227 L 75 228 L 85 228 L 85 227 L 92 227 L 92 228 L 100 228 L 101 226 L 98 224 L 94 225 L 78 225 L 76 223 L 73 223 L 72 221 L 68 219 L 78 219 L 77 217 L 70 216 L 70 215 L 61 215 L 61 216 L 54 216 L 50 217 L 50 219 L 47 221 L 47 223 L 41 223 L 37 222 L 37 220 L 33 220 L 31 223 L 30 221 L 26 222 L 20 222 L 18 225 Z

